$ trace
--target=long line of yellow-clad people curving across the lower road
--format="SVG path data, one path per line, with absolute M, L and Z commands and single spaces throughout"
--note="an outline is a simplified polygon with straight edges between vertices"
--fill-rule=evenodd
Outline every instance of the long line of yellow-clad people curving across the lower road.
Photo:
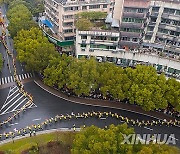
M 19 115 L 19 113 L 18 113 Z M 16 116 L 17 117 L 17 116 Z M 143 127 L 143 126 L 162 126 L 162 125 L 166 125 L 168 127 L 170 126 L 179 126 L 180 125 L 180 121 L 173 121 L 173 120 L 170 120 L 170 121 L 167 121 L 167 120 L 133 120 L 133 119 L 129 119 L 128 117 L 123 117 L 117 113 L 113 113 L 113 112 L 95 112 L 95 111 L 92 111 L 92 112 L 83 112 L 83 113 L 71 113 L 71 114 L 61 114 L 61 115 L 56 115 L 55 117 L 51 117 L 49 119 L 46 119 L 45 121 L 43 121 L 42 123 L 40 124 L 33 124 L 31 126 L 27 126 L 25 128 L 21 128 L 19 130 L 15 129 L 13 132 L 8 132 L 8 133 L 3 133 L 3 134 L 0 134 L 0 140 L 4 140 L 4 139 L 8 139 L 8 138 L 14 138 L 16 136 L 24 136 L 25 134 L 28 134 L 30 135 L 30 137 L 32 136 L 32 134 L 36 134 L 37 131 L 42 131 L 42 130 L 45 130 L 47 128 L 47 126 L 51 126 L 55 123 L 58 123 L 58 122 L 62 122 L 62 121 L 69 121 L 69 120 L 73 120 L 73 119 L 86 119 L 86 118 L 97 118 L 97 119 L 101 119 L 101 118 L 108 118 L 108 117 L 111 117 L 111 118 L 115 118 L 121 122 L 125 122 L 127 123 L 128 125 L 130 126 L 138 126 L 138 127 Z M 9 121 L 9 123 L 12 122 L 12 119 Z M 83 128 L 86 127 L 85 124 L 82 126 Z M 76 130 L 76 125 L 73 124 L 72 126 L 73 130 L 75 131 Z M 107 128 L 107 126 L 105 126 L 105 128 Z

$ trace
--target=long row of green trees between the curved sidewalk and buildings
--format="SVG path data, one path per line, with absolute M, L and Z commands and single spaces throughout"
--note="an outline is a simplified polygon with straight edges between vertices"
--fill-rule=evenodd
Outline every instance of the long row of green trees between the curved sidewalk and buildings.
M 11 20 L 19 15 L 17 7 L 25 9 L 23 4 L 14 5 L 8 12 Z M 25 10 L 23 17 L 27 19 L 26 24 L 31 21 L 31 13 L 27 8 Z M 20 21 L 15 20 L 13 25 L 16 27 Z M 98 63 L 94 58 L 60 56 L 41 30 L 31 27 L 16 31 L 18 34 L 14 43 L 18 59 L 26 63 L 28 70 L 43 73 L 47 85 L 67 88 L 76 95 L 88 96 L 97 91 L 103 97 L 128 99 L 131 104 L 136 103 L 147 111 L 165 109 L 168 104 L 180 111 L 180 83 L 175 79 L 166 80 L 163 74 L 157 75 L 151 66 L 123 69 L 108 62 Z

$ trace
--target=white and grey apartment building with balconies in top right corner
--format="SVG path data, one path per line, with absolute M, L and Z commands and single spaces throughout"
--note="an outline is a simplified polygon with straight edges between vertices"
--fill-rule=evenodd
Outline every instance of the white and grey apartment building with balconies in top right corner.
M 151 2 L 142 46 L 169 56 L 180 55 L 179 0 Z

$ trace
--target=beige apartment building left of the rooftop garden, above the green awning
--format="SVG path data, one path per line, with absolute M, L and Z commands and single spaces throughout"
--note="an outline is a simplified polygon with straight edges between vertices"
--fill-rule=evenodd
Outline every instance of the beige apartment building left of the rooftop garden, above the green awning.
M 52 31 L 61 40 L 73 40 L 76 32 L 75 15 L 84 11 L 112 11 L 110 0 L 45 0 L 45 16 L 54 27 Z

